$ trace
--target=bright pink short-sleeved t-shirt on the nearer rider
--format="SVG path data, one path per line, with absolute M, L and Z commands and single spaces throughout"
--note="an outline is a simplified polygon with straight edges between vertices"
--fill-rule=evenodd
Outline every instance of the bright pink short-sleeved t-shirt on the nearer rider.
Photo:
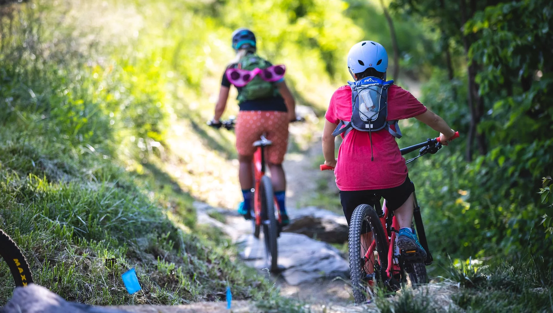
M 408 119 L 425 112 L 426 107 L 410 92 L 397 85 L 388 89 L 388 120 Z M 332 94 L 325 118 L 334 124 L 351 120 L 351 87 L 342 86 Z M 405 182 L 407 166 L 395 137 L 387 129 L 372 132 L 371 137 L 374 161 L 368 132 L 354 129 L 343 139 L 334 170 L 338 189 L 385 189 Z

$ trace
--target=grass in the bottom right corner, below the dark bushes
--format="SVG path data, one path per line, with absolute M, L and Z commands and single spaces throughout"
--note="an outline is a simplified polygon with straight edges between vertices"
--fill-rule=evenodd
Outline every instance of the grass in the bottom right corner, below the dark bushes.
M 383 313 L 553 311 L 553 275 L 543 259 L 488 265 L 471 261 L 447 269 L 445 283 L 457 284 L 451 291 L 404 289 L 392 298 L 381 292 L 376 304 Z

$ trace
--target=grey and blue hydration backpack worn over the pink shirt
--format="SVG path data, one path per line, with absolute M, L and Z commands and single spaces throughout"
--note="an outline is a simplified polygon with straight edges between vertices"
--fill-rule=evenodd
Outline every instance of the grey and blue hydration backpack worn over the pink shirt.
M 351 121 L 340 121 L 332 132 L 333 136 L 348 134 L 352 129 L 372 131 L 387 129 L 396 138 L 401 138 L 398 121 L 391 121 L 395 131 L 390 128 L 388 117 L 388 88 L 394 81 L 384 82 L 376 77 L 365 77 L 357 82 L 348 82 L 351 87 Z

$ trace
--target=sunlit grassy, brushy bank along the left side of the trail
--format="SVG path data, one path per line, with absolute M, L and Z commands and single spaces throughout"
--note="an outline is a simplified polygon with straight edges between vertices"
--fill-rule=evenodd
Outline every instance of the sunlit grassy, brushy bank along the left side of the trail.
M 35 282 L 95 305 L 212 301 L 227 285 L 237 299 L 266 290 L 233 261 L 228 240 L 194 228 L 189 194 L 135 161 L 155 154 L 170 112 L 156 54 L 144 45 L 125 55 L 132 46 L 81 33 L 64 4 L 24 3 L 0 17 L 0 228 Z M 132 267 L 143 287 L 134 296 L 121 281 Z M 9 273 L 0 263 L 2 282 Z

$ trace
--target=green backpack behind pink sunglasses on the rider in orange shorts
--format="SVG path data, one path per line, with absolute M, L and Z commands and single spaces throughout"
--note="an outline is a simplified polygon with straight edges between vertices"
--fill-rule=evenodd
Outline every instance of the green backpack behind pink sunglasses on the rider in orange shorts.
M 242 57 L 237 64 L 238 68 L 247 71 L 253 71 L 255 68 L 263 70 L 271 66 L 271 63 L 257 54 L 248 54 Z M 259 75 L 256 75 L 251 82 L 242 87 L 238 94 L 238 101 L 254 100 L 259 98 L 274 97 L 278 95 L 278 89 L 272 82 L 264 81 Z

